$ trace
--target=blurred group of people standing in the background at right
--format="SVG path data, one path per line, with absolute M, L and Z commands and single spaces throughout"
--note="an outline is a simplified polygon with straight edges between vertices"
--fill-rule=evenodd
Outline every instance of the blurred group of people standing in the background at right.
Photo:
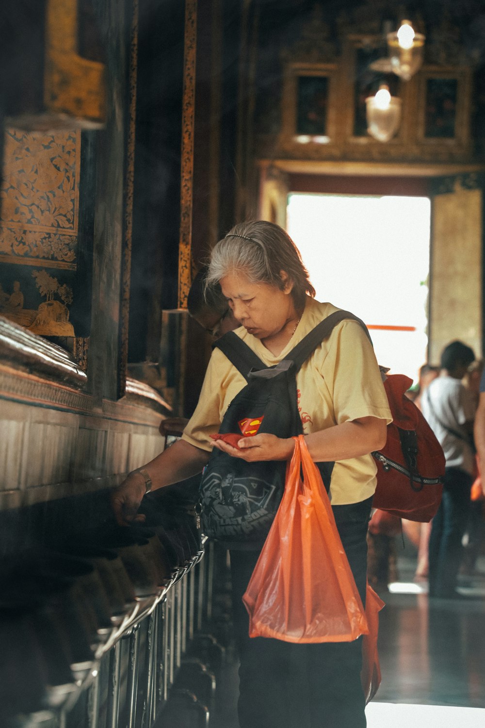
M 399 579 L 398 548 L 406 539 L 417 553 L 414 580 L 424 587 L 428 583 L 430 597 L 465 598 L 457 590 L 458 579 L 485 576 L 478 569 L 478 559 L 485 553 L 485 488 L 477 453 L 481 442 L 475 441 L 485 435 L 484 390 L 484 361 L 476 359 L 470 347 L 452 341 L 444 348 L 440 365 L 422 365 L 417 385 L 406 393 L 444 450 L 444 492 L 430 523 L 374 512 L 368 534 L 368 577 L 381 593 Z

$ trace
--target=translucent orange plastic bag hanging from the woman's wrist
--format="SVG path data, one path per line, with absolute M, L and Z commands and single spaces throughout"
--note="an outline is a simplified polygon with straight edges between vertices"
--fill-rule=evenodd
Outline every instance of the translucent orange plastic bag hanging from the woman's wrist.
M 364 606 L 320 472 L 302 435 L 293 439 L 283 498 L 243 597 L 249 636 L 350 642 L 369 633 Z

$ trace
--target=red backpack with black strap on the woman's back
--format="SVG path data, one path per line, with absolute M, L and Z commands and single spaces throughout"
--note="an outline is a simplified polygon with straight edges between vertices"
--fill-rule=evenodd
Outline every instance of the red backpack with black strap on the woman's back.
M 348 311 L 330 314 L 335 326 L 342 320 L 363 321 Z M 370 336 L 369 336 L 370 339 Z M 377 461 L 377 488 L 372 507 L 406 518 L 427 522 L 441 502 L 445 459 L 440 443 L 417 406 L 406 397 L 412 379 L 390 374 L 384 381 L 393 422 L 388 424 L 388 439 L 372 455 Z

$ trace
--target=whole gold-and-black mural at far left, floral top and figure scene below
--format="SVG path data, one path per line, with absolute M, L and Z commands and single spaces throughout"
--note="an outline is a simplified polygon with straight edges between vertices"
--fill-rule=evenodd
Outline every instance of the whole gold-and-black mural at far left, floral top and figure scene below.
M 74 130 L 5 132 L 0 314 L 42 336 L 74 336 L 80 146 Z

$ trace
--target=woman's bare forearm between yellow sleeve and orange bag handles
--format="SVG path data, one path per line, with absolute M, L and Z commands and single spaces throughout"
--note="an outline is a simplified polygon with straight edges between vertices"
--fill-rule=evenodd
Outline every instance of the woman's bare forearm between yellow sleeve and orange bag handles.
M 305 435 L 305 442 L 314 462 L 329 462 L 380 450 L 385 446 L 386 437 L 384 419 L 362 417 Z

